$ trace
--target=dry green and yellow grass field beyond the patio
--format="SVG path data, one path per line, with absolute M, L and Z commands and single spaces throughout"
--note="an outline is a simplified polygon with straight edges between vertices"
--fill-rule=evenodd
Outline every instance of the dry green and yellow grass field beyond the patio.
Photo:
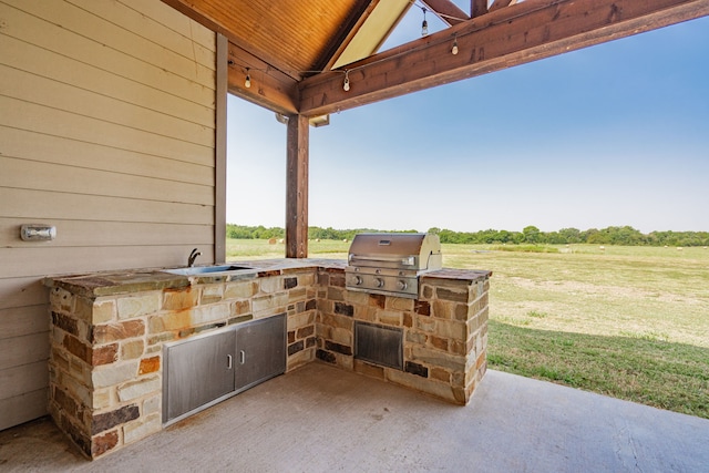
M 309 255 L 348 248 L 310 241 Z M 709 249 L 508 249 L 442 248 L 445 267 L 493 271 L 490 368 L 709 419 Z M 284 245 L 227 240 L 227 255 L 280 258 Z

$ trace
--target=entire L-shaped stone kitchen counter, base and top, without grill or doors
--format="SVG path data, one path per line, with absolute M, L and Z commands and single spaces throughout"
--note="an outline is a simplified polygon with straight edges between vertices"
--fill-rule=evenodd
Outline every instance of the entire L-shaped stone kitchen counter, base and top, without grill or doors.
M 404 298 L 348 290 L 346 261 L 238 265 L 250 269 L 138 269 L 45 280 L 49 411 L 84 454 L 100 457 L 165 426 L 167 348 L 258 320 L 285 318 L 286 372 L 320 360 L 459 404 L 467 403 L 485 373 L 490 271 L 425 273 L 419 296 Z M 358 356 L 358 323 L 367 333 L 400 335 L 401 368 Z

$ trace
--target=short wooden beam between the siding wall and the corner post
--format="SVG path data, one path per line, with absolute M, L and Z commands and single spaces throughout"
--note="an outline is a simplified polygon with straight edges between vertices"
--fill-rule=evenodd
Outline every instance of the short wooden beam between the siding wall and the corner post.
M 250 88 L 246 86 L 247 73 Z M 298 82 L 232 42 L 229 93 L 284 115 L 298 110 Z

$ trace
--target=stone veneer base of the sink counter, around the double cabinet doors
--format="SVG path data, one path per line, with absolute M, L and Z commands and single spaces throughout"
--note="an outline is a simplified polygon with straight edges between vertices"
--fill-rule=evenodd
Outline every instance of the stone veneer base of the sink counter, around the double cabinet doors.
M 286 312 L 287 369 L 312 361 L 315 281 L 315 269 L 277 270 L 107 296 L 55 284 L 49 361 L 54 422 L 92 459 L 160 431 L 163 343 L 251 319 Z

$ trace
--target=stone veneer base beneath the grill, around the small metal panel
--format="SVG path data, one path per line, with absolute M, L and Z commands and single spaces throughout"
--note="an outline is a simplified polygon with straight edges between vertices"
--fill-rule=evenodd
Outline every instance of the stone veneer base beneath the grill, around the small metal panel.
M 405 299 L 347 290 L 341 273 L 321 269 L 316 356 L 466 404 L 486 369 L 489 276 L 444 269 L 421 278 L 419 299 Z M 403 371 L 354 358 L 356 320 L 403 329 Z

